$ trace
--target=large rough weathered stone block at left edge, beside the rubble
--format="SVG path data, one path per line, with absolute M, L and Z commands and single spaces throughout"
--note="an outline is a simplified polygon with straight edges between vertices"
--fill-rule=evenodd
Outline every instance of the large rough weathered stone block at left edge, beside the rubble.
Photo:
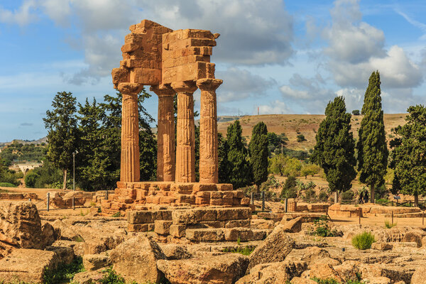
M 0 241 L 21 249 L 44 249 L 40 216 L 35 204 L 0 202 Z

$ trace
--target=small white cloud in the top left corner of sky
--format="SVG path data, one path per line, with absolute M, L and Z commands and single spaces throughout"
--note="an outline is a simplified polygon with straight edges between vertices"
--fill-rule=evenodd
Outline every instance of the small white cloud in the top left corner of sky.
M 25 0 L 18 10 L 10 11 L 0 6 L 0 23 L 17 24 L 26 26 L 38 17 L 33 11 L 36 8 L 35 0 Z

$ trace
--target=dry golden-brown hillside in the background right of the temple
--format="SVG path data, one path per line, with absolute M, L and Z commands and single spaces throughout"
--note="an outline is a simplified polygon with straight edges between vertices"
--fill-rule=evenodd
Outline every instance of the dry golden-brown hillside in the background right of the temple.
M 385 114 L 385 130 L 388 140 L 392 137 L 391 129 L 398 125 L 405 124 L 406 114 Z M 247 142 L 251 138 L 251 130 L 258 122 L 263 121 L 268 126 L 269 132 L 277 134 L 285 133 L 288 137 L 287 148 L 293 150 L 307 151 L 315 146 L 315 135 L 321 121 L 324 119 L 323 114 L 266 114 L 259 116 L 242 116 L 239 121 L 243 127 L 243 136 Z M 358 130 L 363 116 L 352 116 L 351 129 L 354 132 L 354 137 L 358 139 Z M 226 129 L 233 121 L 218 122 L 217 129 L 220 133 L 226 136 Z M 299 133 L 305 136 L 306 141 L 297 142 Z M 390 137 L 391 135 L 391 137 Z

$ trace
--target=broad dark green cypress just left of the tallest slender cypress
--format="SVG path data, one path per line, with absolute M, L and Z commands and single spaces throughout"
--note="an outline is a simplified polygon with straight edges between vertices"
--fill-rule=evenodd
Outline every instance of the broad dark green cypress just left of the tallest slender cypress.
M 344 192 L 351 189 L 356 177 L 351 114 L 346 113 L 344 98 L 335 97 L 329 102 L 325 115 L 317 131 L 312 160 L 324 169 L 330 190 Z

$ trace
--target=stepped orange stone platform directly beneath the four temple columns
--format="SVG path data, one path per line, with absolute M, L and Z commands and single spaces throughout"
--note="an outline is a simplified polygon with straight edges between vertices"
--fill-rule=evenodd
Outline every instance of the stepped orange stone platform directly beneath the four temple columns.
M 138 209 L 144 204 L 241 207 L 249 206 L 250 199 L 230 184 L 117 182 L 114 195 L 101 202 L 102 212 L 107 214 Z

